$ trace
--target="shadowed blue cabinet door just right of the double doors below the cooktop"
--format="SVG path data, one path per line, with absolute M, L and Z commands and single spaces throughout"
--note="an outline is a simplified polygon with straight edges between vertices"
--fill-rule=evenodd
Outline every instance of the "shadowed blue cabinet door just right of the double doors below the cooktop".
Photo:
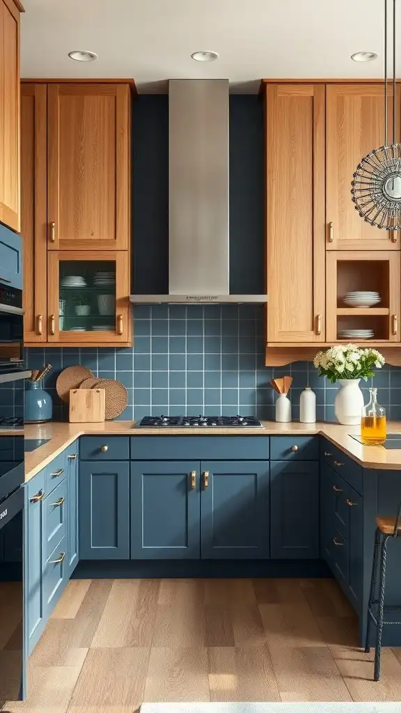
M 270 463 L 270 555 L 319 557 L 319 463 Z

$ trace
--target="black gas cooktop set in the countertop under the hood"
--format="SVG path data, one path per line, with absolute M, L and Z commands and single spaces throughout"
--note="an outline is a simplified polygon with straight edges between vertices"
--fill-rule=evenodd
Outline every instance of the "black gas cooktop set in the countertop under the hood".
M 208 429 L 263 429 L 255 416 L 144 416 L 137 428 L 208 428 Z

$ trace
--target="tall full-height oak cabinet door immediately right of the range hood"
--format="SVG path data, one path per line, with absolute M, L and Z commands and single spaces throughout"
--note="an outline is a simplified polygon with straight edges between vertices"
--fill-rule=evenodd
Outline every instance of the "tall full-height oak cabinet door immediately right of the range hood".
M 324 342 L 325 88 L 266 92 L 268 342 Z

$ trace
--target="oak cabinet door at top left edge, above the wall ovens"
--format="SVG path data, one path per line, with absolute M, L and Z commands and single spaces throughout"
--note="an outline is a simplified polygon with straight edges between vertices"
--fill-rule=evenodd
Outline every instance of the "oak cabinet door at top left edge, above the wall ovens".
M 14 0 L 0 0 L 0 221 L 19 232 L 19 9 Z

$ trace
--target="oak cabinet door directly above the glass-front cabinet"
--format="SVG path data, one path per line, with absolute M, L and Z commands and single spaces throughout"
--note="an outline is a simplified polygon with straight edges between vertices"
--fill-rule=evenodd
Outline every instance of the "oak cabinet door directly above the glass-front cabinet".
M 128 83 L 51 83 L 48 101 L 49 249 L 128 250 Z

